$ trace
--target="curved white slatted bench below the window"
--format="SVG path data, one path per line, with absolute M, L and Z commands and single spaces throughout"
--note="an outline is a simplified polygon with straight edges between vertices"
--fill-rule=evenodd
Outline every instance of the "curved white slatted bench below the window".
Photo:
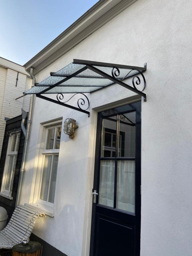
M 27 206 L 17 206 L 7 226 L 0 231 L 0 249 L 11 249 L 29 239 L 38 216 L 45 214 Z

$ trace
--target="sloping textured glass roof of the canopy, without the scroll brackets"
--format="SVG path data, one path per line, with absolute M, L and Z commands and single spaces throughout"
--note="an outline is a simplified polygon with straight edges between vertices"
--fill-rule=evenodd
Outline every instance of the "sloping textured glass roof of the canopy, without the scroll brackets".
M 145 70 L 146 67 L 74 59 L 24 94 L 90 93 Z

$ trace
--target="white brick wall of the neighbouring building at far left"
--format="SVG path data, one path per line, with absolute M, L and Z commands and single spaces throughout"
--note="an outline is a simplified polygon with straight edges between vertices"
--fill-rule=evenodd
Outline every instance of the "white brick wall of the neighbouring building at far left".
M 13 118 L 21 114 L 21 108 L 28 111 L 30 96 L 17 97 L 31 87 L 32 80 L 25 74 L 19 73 L 16 87 L 17 71 L 0 67 L 0 154 L 3 144 L 5 117 Z

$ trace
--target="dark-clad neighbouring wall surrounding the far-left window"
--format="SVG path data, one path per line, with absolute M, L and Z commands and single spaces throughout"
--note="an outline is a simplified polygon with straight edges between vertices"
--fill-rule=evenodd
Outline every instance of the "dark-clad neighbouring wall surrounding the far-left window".
M 3 145 L 2 145 L 2 153 L 0 158 L 0 186 L 2 184 L 2 178 L 3 178 L 3 171 L 5 166 L 5 159 L 6 159 L 6 153 L 7 153 L 7 146 L 9 141 L 9 133 L 13 132 L 14 130 L 21 129 L 21 121 L 22 121 L 22 115 L 14 117 L 8 121 L 6 121 L 5 126 L 5 135 L 3 139 Z M 25 124 L 27 126 L 27 124 Z M 12 190 L 12 197 L 13 199 L 10 200 L 8 198 L 5 198 L 3 196 L 0 196 L 0 206 L 4 207 L 8 212 L 8 220 L 11 218 L 11 215 L 15 209 L 15 201 L 17 197 L 17 187 L 19 182 L 19 174 L 20 174 L 20 168 L 21 168 L 21 161 L 23 156 L 23 147 L 25 142 L 25 136 L 21 130 L 20 135 L 20 142 L 19 142 L 19 148 L 18 148 L 18 154 L 17 154 L 17 161 L 16 161 L 16 169 L 15 169 L 15 176 L 13 181 L 13 190 Z

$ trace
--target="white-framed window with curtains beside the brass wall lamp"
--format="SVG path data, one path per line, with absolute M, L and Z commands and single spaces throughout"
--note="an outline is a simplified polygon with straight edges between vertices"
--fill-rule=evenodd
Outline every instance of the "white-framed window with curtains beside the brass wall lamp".
M 39 202 L 53 204 L 61 138 L 61 124 L 46 127 Z

